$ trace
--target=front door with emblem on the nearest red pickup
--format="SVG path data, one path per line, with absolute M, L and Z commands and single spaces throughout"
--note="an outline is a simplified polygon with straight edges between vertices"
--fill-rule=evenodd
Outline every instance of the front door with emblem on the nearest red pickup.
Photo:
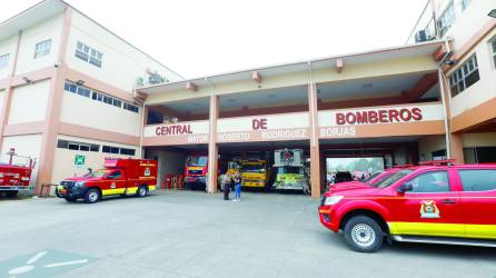
M 459 192 L 453 190 L 452 180 L 446 170 L 421 172 L 407 180 L 411 190 L 395 198 L 391 234 L 463 237 Z

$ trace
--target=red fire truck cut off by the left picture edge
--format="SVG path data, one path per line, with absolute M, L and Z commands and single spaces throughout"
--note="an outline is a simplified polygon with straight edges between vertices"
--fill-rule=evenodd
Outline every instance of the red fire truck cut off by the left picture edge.
M 34 161 L 30 157 L 16 155 L 14 149 L 10 149 L 7 162 L 0 162 L 0 196 L 16 197 L 19 191 L 32 190 L 29 186 L 31 171 Z

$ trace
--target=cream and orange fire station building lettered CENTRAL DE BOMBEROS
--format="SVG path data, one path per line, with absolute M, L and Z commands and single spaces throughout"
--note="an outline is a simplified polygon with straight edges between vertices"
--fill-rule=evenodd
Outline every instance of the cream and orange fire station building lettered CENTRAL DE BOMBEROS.
M 226 156 L 298 148 L 313 197 L 326 158 L 494 162 L 490 2 L 427 1 L 399 47 L 182 79 L 72 7 L 44 1 L 0 26 L 1 151 L 38 157 L 40 185 L 81 173 L 80 153 L 95 168 L 106 156 L 158 159 L 161 182 L 188 153 L 219 169 Z

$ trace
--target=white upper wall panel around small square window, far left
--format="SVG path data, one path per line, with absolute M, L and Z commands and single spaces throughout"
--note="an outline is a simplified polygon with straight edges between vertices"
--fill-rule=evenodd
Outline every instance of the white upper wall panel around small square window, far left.
M 22 31 L 19 46 L 16 75 L 30 72 L 37 69 L 52 67 L 58 59 L 60 36 L 62 31 L 63 14 L 60 13 L 47 21 Z M 50 54 L 34 59 L 36 43 L 51 39 Z

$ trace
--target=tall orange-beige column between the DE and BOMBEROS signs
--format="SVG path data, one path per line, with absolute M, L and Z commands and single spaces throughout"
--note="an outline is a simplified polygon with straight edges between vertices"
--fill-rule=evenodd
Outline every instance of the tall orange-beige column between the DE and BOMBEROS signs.
M 308 110 L 310 115 L 310 182 L 311 198 L 320 197 L 321 166 L 318 140 L 317 89 L 315 83 L 308 85 Z

